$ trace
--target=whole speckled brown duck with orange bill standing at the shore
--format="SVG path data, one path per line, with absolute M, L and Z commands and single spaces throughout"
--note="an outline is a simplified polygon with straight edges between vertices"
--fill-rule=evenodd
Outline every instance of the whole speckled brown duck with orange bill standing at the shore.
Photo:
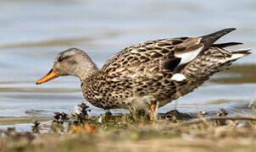
M 156 106 L 192 92 L 214 73 L 251 53 L 225 50 L 226 46 L 242 43 L 214 44 L 232 30 L 236 29 L 138 43 L 110 57 L 101 70 L 86 52 L 70 48 L 58 54 L 51 71 L 36 84 L 58 76 L 76 76 L 81 79 L 83 95 L 93 106 L 105 110 L 146 108 L 153 119 Z

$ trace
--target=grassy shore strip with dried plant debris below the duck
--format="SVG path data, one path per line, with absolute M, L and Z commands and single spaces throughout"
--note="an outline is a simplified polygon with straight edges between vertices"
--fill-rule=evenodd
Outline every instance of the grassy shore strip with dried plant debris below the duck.
M 232 151 L 256 149 L 256 118 L 219 116 L 198 118 L 179 111 L 170 111 L 158 121 L 134 119 L 132 114 L 106 114 L 89 117 L 88 107 L 79 105 L 81 113 L 55 112 L 52 129 L 40 133 L 43 124 L 33 122 L 32 131 L 1 131 L 0 150 L 7 151 Z M 85 111 L 82 111 L 84 109 Z M 82 117 L 81 117 L 82 116 Z M 189 120 L 185 120 L 186 117 Z M 83 118 L 83 121 L 81 119 Z M 183 119 L 181 119 L 183 118 Z M 171 120 L 171 121 L 170 121 Z M 222 123 L 231 120 L 229 123 Z M 53 128 L 54 127 L 54 128 Z M 223 150 L 221 150 L 223 149 Z M 253 149 L 253 150 L 252 150 Z

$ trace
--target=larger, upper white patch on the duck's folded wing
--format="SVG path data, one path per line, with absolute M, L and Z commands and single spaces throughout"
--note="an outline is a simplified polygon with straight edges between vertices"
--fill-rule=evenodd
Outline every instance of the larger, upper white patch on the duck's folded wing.
M 193 50 L 191 52 L 185 52 L 180 54 L 175 54 L 175 57 L 180 57 L 180 64 L 185 64 L 187 62 L 191 62 L 194 58 L 198 56 L 198 54 L 203 50 L 203 46 L 199 47 L 197 50 Z

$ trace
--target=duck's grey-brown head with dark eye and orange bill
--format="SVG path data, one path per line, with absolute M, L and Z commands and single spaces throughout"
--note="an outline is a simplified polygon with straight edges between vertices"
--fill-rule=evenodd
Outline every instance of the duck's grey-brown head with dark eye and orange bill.
M 58 54 L 53 63 L 53 68 L 46 76 L 39 79 L 36 84 L 42 84 L 59 76 L 68 75 L 78 77 L 82 80 L 97 72 L 97 66 L 92 62 L 92 59 L 86 52 L 77 48 L 70 48 Z

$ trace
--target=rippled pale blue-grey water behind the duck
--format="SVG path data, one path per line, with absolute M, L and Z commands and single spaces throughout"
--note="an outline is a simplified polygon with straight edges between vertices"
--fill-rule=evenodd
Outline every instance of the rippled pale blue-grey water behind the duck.
M 256 48 L 254 0 L 0 0 L 0 128 L 21 130 L 32 120 L 47 121 L 53 111 L 70 112 L 84 101 L 79 79 L 65 77 L 36 86 L 58 52 L 86 51 L 97 66 L 137 42 L 206 35 L 236 27 L 221 41 Z M 192 94 L 159 109 L 197 113 L 253 112 L 255 53 L 219 73 Z M 104 111 L 91 106 L 91 115 Z M 122 112 L 114 110 L 112 112 Z

